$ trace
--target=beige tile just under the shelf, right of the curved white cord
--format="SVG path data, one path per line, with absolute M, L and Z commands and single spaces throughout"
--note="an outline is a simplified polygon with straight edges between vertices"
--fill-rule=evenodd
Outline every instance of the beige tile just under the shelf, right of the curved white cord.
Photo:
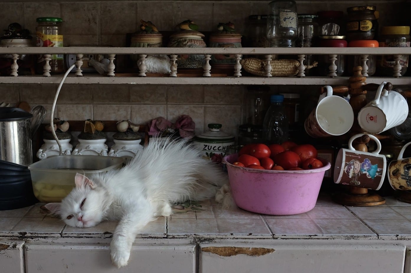
M 57 87 L 55 87 L 56 89 Z M 61 103 L 91 103 L 92 93 L 90 89 L 97 89 L 90 84 L 63 84 L 58 94 L 58 104 Z

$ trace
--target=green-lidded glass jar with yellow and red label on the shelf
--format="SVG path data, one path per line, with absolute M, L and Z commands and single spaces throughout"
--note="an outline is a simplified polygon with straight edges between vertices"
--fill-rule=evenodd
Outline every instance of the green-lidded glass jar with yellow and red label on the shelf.
M 39 17 L 36 19 L 36 45 L 39 47 L 63 47 L 62 18 Z M 37 58 L 36 72 L 43 74 L 44 56 Z M 64 57 L 62 54 L 51 55 L 50 73 L 58 74 L 64 72 Z

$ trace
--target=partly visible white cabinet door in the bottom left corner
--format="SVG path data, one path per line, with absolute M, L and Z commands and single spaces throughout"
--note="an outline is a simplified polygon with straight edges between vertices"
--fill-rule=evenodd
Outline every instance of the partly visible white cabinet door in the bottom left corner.
M 24 273 L 24 241 L 0 240 L 0 272 Z

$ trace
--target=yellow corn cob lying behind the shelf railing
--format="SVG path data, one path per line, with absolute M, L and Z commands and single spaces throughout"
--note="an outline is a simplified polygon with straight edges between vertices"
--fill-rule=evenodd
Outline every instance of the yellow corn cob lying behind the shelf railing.
M 240 64 L 250 74 L 256 76 L 264 76 L 266 61 L 257 58 L 246 58 L 240 60 Z M 298 73 L 298 66 L 300 62 L 292 59 L 271 60 L 271 75 L 273 77 L 294 76 Z

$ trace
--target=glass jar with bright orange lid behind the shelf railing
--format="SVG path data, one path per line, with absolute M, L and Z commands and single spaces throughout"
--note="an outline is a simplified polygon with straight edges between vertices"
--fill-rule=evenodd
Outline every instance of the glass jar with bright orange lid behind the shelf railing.
M 358 41 L 351 41 L 348 43 L 349 48 L 378 48 L 378 41 L 375 40 L 358 40 Z M 365 64 L 368 66 L 367 75 L 365 75 L 365 71 L 363 69 L 362 74 L 363 76 L 372 76 L 375 73 L 377 59 L 376 55 L 368 55 L 367 61 Z M 349 75 L 353 75 L 354 66 L 363 66 L 362 55 L 349 55 L 347 56 L 347 73 Z

